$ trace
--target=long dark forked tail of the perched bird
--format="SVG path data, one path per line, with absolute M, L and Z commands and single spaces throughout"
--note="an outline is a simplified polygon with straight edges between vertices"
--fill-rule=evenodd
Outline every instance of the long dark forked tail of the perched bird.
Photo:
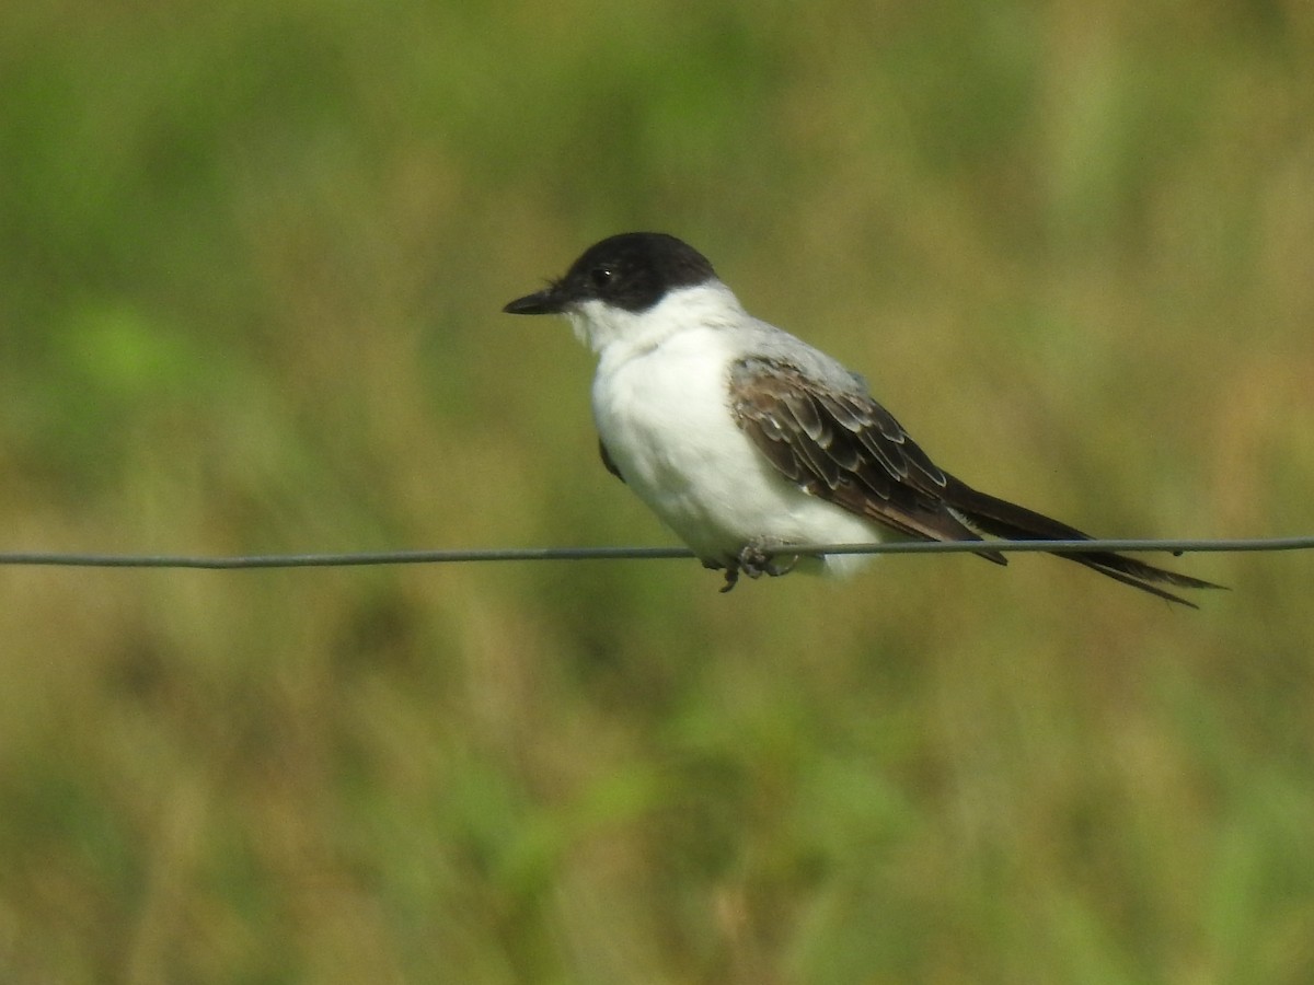
M 949 489 L 945 490 L 945 500 L 962 516 L 962 519 L 982 533 L 989 533 L 1005 540 L 1093 540 L 1091 535 L 1083 533 L 1075 527 L 1059 523 L 1049 516 L 1028 510 L 1025 506 L 1009 503 L 987 492 L 979 492 L 971 486 L 955 478 L 949 479 Z M 1108 575 L 1116 582 L 1130 584 L 1133 588 L 1158 595 L 1160 599 L 1176 602 L 1190 608 L 1198 608 L 1193 602 L 1164 591 L 1159 584 L 1171 584 L 1176 588 L 1223 588 L 1222 584 L 1205 582 L 1200 578 L 1166 571 L 1162 567 L 1147 565 L 1134 558 L 1116 554 L 1112 550 L 1084 552 L 1050 552 L 1058 557 L 1085 565 L 1089 569 Z

